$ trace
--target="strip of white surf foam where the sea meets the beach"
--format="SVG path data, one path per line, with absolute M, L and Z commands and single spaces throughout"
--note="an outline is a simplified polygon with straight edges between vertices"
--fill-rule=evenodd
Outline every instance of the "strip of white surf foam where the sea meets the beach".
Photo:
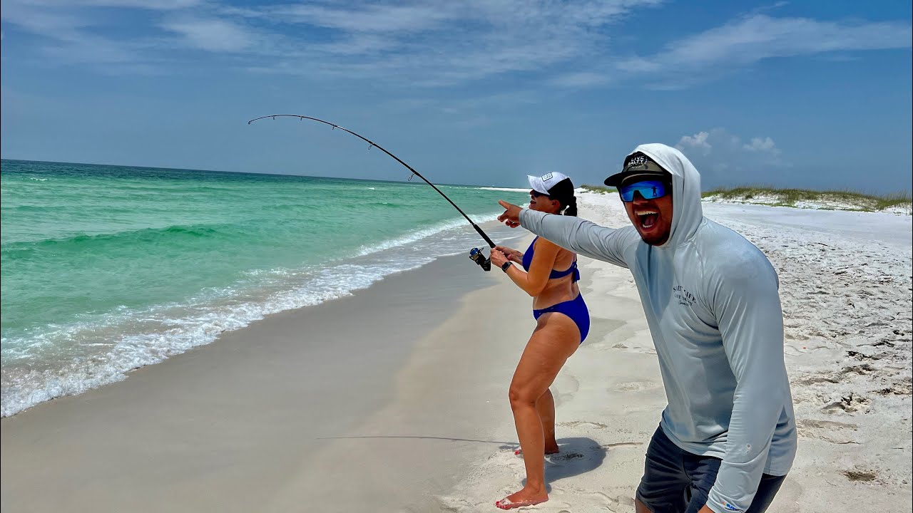
M 509 239 L 512 235 L 507 232 L 509 228 L 496 222 L 480 223 L 496 238 L 501 236 Z M 467 227 L 464 232 L 469 232 Z M 440 233 L 437 232 L 438 235 Z M 423 243 L 423 240 L 427 242 Z M 125 381 L 138 369 L 160 364 L 186 351 L 215 343 L 226 333 L 242 330 L 274 314 L 308 309 L 320 303 L 359 294 L 385 277 L 413 272 L 436 258 L 465 254 L 462 249 L 455 252 L 457 246 L 450 242 L 435 247 L 435 252 L 429 255 L 426 246 L 433 244 L 433 241 L 433 237 L 419 234 L 398 239 L 401 245 L 398 248 L 386 248 L 385 242 L 371 246 L 369 254 L 348 257 L 341 267 L 337 267 L 339 262 L 321 264 L 306 273 L 308 277 L 305 282 L 300 281 L 303 278 L 289 277 L 279 285 L 271 286 L 271 291 L 267 290 L 260 295 L 245 296 L 247 292 L 238 292 L 243 301 L 233 307 L 219 305 L 219 301 L 215 300 L 209 303 L 205 300 L 186 300 L 168 308 L 157 306 L 144 313 L 137 310 L 128 317 L 115 318 L 114 329 L 97 333 L 99 338 L 89 339 L 89 343 L 85 343 L 86 339 L 79 330 L 91 331 L 97 328 L 70 327 L 77 330 L 70 341 L 72 348 L 100 346 L 102 349 L 97 352 L 91 352 L 94 351 L 92 349 L 71 351 L 68 356 L 73 360 L 68 364 L 55 361 L 53 355 L 49 357 L 49 362 L 36 361 L 33 365 L 5 361 L 9 366 L 4 369 L 3 418 L 50 400 L 79 395 L 113 382 Z M 417 253 L 411 260 L 402 256 L 403 253 L 408 255 L 413 251 Z M 395 262 L 396 260 L 403 260 L 404 263 Z M 134 328 L 137 325 L 142 327 L 123 330 L 118 327 L 119 323 L 129 325 L 131 322 L 134 323 Z M 67 326 L 63 325 L 59 331 L 66 330 Z M 14 338 L 11 343 L 15 345 L 18 341 L 20 340 Z M 45 344 L 53 349 L 53 341 L 46 341 Z

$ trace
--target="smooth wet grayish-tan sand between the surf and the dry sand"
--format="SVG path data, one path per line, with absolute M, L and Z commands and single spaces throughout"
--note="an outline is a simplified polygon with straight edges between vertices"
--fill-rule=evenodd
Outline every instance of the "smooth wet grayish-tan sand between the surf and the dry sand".
M 417 340 L 498 283 L 475 267 L 441 257 L 4 418 L 3 508 L 262 509 L 328 437 L 393 400 Z

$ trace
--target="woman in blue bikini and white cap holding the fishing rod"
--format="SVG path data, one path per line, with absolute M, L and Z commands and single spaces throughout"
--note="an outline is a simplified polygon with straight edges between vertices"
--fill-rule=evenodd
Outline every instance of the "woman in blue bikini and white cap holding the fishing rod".
M 571 179 L 561 173 L 530 176 L 530 210 L 577 215 Z M 515 267 L 512 262 L 523 266 Z M 525 253 L 506 246 L 491 250 L 491 263 L 501 267 L 517 287 L 532 297 L 532 331 L 510 382 L 510 409 L 517 426 L 526 466 L 526 485 L 495 506 L 521 508 L 549 499 L 545 492 L 545 456 L 559 451 L 555 441 L 555 402 L 549 386 L 561 367 L 586 339 L 590 313 L 577 288 L 577 256 L 540 237 Z M 519 451 L 518 451 L 519 453 Z

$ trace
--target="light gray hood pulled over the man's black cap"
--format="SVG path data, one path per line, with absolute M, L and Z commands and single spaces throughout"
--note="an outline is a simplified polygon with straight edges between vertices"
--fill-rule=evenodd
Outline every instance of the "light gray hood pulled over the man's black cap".
M 643 162 L 631 159 L 637 153 L 643 153 L 647 158 Z M 625 175 L 646 170 L 640 170 L 636 165 L 643 167 L 646 164 L 645 168 L 650 170 L 656 166 L 672 175 L 672 228 L 666 244 L 659 247 L 675 247 L 690 239 L 704 220 L 704 210 L 700 206 L 700 173 L 691 161 L 677 149 L 654 142 L 637 146 L 634 152 L 628 153 L 624 162 L 628 165 L 621 173 L 607 178 L 606 184 L 615 177 L 618 177 L 615 183 L 620 183 Z M 632 162 L 636 164 L 633 166 Z M 630 173 L 625 173 L 626 171 Z

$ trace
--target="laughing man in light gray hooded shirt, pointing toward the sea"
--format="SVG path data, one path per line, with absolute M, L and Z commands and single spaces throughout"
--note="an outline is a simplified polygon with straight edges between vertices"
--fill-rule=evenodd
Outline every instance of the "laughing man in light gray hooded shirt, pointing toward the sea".
M 665 144 L 638 146 L 618 188 L 633 226 L 499 202 L 498 220 L 635 277 L 668 405 L 646 452 L 638 513 L 761 513 L 796 451 L 776 271 L 704 217 L 700 175 Z

